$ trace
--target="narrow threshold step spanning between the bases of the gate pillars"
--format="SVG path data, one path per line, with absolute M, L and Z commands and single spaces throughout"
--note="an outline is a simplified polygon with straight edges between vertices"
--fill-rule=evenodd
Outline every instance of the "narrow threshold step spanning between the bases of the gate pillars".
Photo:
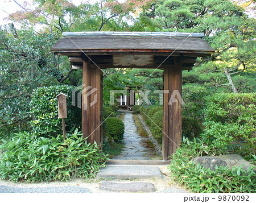
M 122 160 L 110 159 L 108 165 L 170 165 L 171 161 L 164 160 Z

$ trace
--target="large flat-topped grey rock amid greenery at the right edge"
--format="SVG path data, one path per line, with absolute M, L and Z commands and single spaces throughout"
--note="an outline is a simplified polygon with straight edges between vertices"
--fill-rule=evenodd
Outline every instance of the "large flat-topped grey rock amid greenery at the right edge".
M 250 164 L 250 161 L 246 161 L 242 158 L 242 156 L 237 154 L 228 154 L 228 155 L 221 155 L 221 156 L 200 156 L 193 158 L 195 163 L 202 164 L 204 168 L 210 168 L 212 171 L 215 171 L 215 165 L 218 167 L 226 167 L 228 166 L 229 169 L 234 167 L 242 166 L 243 169 L 247 171 L 249 167 L 254 167 L 254 171 L 256 171 L 256 166 Z

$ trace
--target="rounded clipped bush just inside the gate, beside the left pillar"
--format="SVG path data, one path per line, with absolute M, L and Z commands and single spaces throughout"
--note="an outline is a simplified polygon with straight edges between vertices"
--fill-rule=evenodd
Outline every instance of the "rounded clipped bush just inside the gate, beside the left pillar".
M 115 142 L 122 142 L 124 133 L 125 124 L 122 122 L 121 119 L 116 117 L 106 119 L 106 134 L 111 135 Z

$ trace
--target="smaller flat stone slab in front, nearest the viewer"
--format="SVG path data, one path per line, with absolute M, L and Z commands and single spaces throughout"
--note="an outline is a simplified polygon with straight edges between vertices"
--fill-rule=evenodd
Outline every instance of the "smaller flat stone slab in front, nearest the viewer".
M 155 186 L 152 183 L 114 183 L 111 181 L 102 181 L 100 190 L 109 192 L 155 192 Z

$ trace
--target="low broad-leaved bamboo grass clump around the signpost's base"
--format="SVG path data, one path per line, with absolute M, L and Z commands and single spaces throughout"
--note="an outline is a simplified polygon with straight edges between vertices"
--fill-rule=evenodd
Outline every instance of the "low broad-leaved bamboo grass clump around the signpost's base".
M 75 130 L 63 142 L 20 132 L 0 146 L 0 179 L 11 181 L 69 180 L 94 177 L 106 156 Z

